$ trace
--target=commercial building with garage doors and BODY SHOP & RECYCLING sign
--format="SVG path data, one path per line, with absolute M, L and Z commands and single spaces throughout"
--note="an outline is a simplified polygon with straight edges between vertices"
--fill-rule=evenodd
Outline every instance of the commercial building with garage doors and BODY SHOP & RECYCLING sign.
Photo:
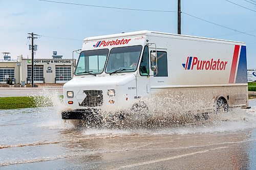
M 13 84 L 22 81 L 31 83 L 32 60 L 18 56 L 11 60 L 9 53 L 4 53 L 4 59 L 0 60 L 0 83 L 6 84 L 12 80 Z M 53 53 L 52 59 L 34 59 L 34 83 L 66 83 L 73 77 L 76 65 L 74 59 L 62 59 L 57 52 Z

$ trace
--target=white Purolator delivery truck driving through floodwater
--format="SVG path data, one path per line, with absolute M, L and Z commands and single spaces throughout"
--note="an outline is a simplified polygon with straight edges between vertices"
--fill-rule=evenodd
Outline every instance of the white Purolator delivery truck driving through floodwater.
M 89 37 L 63 91 L 63 119 L 140 107 L 142 99 L 164 96 L 202 100 L 202 111 L 247 108 L 246 45 L 154 31 Z

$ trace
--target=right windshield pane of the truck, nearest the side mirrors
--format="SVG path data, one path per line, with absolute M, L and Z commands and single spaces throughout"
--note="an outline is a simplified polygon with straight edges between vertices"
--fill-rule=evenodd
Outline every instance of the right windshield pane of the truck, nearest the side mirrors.
M 106 64 L 106 73 L 135 71 L 141 49 L 141 45 L 112 48 L 108 63 Z

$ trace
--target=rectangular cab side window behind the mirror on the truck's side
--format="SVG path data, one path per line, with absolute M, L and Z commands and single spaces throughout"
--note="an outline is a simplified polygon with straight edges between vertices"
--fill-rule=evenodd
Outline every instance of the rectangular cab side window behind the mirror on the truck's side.
M 151 51 L 151 53 L 156 51 Z M 152 63 L 151 63 L 152 64 Z M 154 75 L 156 71 L 154 71 Z M 157 51 L 157 75 L 155 77 L 168 77 L 167 53 Z

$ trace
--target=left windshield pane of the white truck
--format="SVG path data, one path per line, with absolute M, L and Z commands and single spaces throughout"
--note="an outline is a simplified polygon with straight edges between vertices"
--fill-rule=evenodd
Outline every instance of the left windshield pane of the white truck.
M 75 75 L 101 74 L 108 54 L 108 49 L 81 52 L 76 66 Z

